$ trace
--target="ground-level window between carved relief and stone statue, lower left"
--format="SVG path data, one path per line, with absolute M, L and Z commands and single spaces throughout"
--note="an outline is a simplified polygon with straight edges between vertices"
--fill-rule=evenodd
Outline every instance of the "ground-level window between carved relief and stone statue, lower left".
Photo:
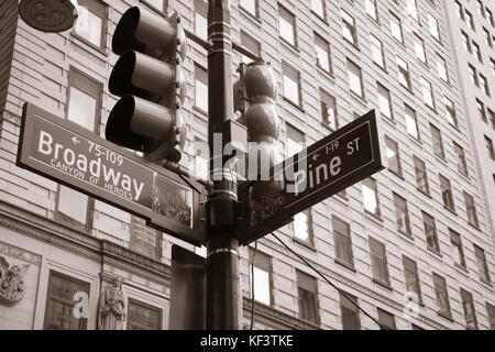
M 86 330 L 87 318 L 76 318 L 74 300 L 76 293 L 86 293 L 89 297 L 89 284 L 51 271 L 46 295 L 44 330 Z

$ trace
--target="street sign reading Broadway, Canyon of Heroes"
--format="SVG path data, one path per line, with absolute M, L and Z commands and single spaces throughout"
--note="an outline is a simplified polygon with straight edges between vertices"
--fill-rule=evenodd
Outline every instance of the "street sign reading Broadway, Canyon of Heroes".
M 24 105 L 16 165 L 111 204 L 195 245 L 206 244 L 206 189 L 32 103 Z

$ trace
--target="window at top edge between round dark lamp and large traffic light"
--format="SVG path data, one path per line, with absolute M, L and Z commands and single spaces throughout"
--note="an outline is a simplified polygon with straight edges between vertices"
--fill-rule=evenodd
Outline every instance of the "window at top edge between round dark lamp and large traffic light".
M 79 0 L 79 15 L 74 32 L 98 48 L 106 46 L 107 7 L 94 0 Z

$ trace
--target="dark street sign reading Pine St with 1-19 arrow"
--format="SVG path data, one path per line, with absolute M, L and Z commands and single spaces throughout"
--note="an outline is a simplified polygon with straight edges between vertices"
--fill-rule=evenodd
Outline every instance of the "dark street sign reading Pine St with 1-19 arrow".
M 239 186 L 245 211 L 240 243 L 275 231 L 296 213 L 383 168 L 372 110 L 272 168 L 268 180 Z

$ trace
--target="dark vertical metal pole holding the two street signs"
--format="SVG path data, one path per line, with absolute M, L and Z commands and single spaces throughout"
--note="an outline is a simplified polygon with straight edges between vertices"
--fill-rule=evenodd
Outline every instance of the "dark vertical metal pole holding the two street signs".
M 237 239 L 237 179 L 223 166 L 233 113 L 229 0 L 208 0 L 208 142 L 213 188 L 206 205 L 207 329 L 239 329 L 241 293 Z

